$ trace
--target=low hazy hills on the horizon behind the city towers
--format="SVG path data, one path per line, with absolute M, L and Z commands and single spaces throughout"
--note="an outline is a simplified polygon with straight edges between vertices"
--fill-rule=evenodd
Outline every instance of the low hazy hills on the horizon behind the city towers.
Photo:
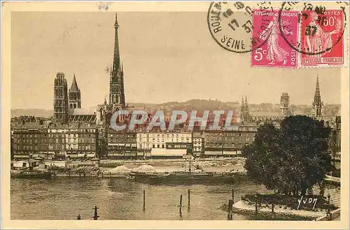
M 238 101 L 218 101 L 218 100 L 200 100 L 194 99 L 185 102 L 171 101 L 167 103 L 128 103 L 128 106 L 134 108 L 147 108 L 148 110 L 165 110 L 169 113 L 172 110 L 239 110 L 240 104 Z M 251 115 L 279 115 L 279 104 L 260 103 L 249 104 Z M 290 110 L 293 114 L 310 115 L 311 105 L 290 105 Z M 324 106 L 325 117 L 334 117 L 340 115 L 339 104 L 327 104 Z M 20 115 L 35 116 L 35 117 L 50 117 L 53 115 L 53 110 L 43 109 L 15 109 L 11 110 L 11 117 Z

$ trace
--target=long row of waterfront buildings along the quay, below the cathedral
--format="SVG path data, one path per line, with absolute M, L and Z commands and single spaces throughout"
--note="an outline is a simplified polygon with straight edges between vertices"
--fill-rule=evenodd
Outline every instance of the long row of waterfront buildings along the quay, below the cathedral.
M 14 128 L 13 159 L 144 158 L 228 156 L 251 143 L 257 125 L 237 124 L 235 131 L 113 131 L 80 125 L 38 125 Z

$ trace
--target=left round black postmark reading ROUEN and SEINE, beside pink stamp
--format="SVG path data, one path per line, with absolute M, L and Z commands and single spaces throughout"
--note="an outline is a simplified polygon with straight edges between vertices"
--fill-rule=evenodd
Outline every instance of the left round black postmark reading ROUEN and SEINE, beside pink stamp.
M 251 52 L 266 41 L 253 37 L 253 3 L 228 1 L 212 2 L 207 22 L 211 36 L 225 50 L 237 53 Z

